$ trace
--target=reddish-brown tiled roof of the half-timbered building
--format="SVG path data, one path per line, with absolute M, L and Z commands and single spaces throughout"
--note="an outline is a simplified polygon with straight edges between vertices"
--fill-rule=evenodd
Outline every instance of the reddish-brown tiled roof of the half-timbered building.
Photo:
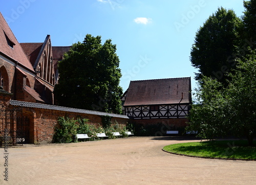
M 190 102 L 190 78 L 131 81 L 124 106 Z

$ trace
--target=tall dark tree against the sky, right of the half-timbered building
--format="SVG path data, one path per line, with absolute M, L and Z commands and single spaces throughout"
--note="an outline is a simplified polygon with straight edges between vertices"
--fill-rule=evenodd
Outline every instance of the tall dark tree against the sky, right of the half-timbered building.
M 192 65 L 199 70 L 196 80 L 207 76 L 225 82 L 224 74 L 234 66 L 232 55 L 241 44 L 241 24 L 233 10 L 221 7 L 199 28 L 190 53 Z

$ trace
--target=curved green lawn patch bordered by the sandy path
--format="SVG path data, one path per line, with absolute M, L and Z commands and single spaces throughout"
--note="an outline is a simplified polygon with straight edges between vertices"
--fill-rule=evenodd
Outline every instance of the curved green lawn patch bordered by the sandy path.
M 249 147 L 246 140 L 207 141 L 168 145 L 163 150 L 200 157 L 237 158 L 256 160 L 256 141 Z

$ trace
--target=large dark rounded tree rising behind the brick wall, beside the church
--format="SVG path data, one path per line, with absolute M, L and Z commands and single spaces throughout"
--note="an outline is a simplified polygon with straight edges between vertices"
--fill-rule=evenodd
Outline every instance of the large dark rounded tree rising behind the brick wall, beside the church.
M 54 95 L 58 105 L 121 113 L 121 71 L 116 45 L 101 44 L 101 37 L 86 35 L 58 63 L 59 80 Z

